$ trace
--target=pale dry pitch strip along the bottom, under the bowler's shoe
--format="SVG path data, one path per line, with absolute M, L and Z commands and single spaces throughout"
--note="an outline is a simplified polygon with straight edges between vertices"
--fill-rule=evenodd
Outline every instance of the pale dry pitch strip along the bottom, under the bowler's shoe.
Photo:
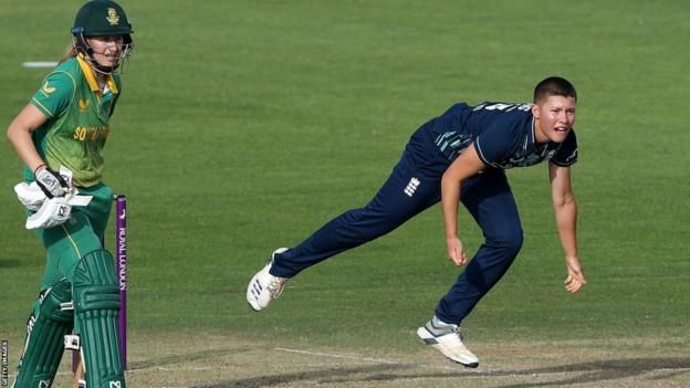
M 410 333 L 410 340 L 414 340 Z M 185 343 L 175 343 L 174 338 Z M 480 367 L 464 368 L 424 346 L 307 348 L 230 336 L 137 336 L 129 387 L 688 387 L 688 338 L 479 343 Z M 411 346 L 410 346 L 411 347 Z M 63 366 L 55 386 L 69 386 Z M 13 378 L 11 379 L 13 380 Z

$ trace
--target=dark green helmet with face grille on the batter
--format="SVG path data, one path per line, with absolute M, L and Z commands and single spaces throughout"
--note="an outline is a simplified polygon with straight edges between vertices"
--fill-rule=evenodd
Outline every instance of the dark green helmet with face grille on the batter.
M 74 18 L 72 35 L 74 49 L 82 53 L 90 64 L 101 73 L 113 73 L 132 54 L 132 24 L 125 10 L 113 0 L 92 0 L 82 6 Z M 121 56 L 114 66 L 103 66 L 93 59 L 93 49 L 86 40 L 90 36 L 123 36 Z

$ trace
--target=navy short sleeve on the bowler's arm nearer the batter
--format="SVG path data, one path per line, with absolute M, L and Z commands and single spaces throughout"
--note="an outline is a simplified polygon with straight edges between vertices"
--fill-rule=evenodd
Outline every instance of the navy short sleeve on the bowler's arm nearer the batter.
M 515 125 L 503 119 L 494 122 L 474 139 L 474 149 L 485 165 L 505 160 L 513 155 L 520 135 L 515 133 Z

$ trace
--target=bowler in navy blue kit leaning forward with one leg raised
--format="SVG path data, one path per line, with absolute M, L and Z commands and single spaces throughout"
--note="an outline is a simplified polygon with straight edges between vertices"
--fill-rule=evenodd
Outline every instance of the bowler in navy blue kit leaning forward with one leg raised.
M 460 323 L 508 271 L 522 247 L 522 227 L 505 169 L 548 161 L 553 208 L 568 275 L 577 292 L 585 277 L 577 254 L 577 208 L 571 166 L 577 161 L 575 87 L 548 77 L 532 104 L 483 103 L 451 106 L 415 132 L 402 157 L 374 199 L 333 219 L 292 249 L 273 252 L 254 275 L 247 301 L 254 311 L 276 298 L 285 282 L 304 269 L 384 235 L 441 201 L 448 258 L 467 268 L 418 336 L 468 367 L 479 359 L 462 343 Z M 484 243 L 469 261 L 458 233 L 458 203 L 472 214 Z

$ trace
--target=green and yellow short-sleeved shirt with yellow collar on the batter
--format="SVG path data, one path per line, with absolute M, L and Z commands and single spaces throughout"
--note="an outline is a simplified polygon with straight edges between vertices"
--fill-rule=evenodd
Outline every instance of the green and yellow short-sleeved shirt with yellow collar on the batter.
M 93 187 L 101 182 L 103 147 L 119 90 L 119 76 L 108 75 L 102 91 L 93 70 L 80 54 L 55 67 L 31 98 L 31 103 L 48 117 L 32 133 L 39 155 L 53 170 L 60 166 L 72 170 L 77 187 Z M 28 167 L 24 178 L 34 179 Z

